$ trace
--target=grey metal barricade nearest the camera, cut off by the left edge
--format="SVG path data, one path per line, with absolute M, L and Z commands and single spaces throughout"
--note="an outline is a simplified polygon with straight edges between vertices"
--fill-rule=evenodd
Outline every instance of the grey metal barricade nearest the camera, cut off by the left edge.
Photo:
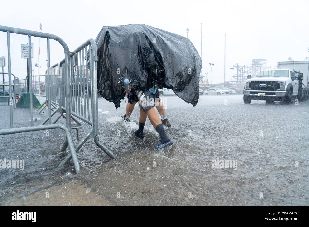
M 70 154 L 73 159 L 74 168 L 75 171 L 78 173 L 80 171 L 80 166 L 78 163 L 78 159 L 76 156 L 76 151 L 74 149 L 74 144 L 71 137 L 71 98 L 70 98 L 70 51 L 67 46 L 67 44 L 58 36 L 43 33 L 43 32 L 35 32 L 35 31 L 29 31 L 14 27 L 6 27 L 6 26 L 0 26 L 0 32 L 6 32 L 7 34 L 7 55 L 8 55 L 8 75 L 9 75 L 9 84 L 12 83 L 11 81 L 11 42 L 10 42 L 10 34 L 20 34 L 20 35 L 27 35 L 28 36 L 28 43 L 29 43 L 29 92 L 30 92 L 30 127 L 20 127 L 20 128 L 13 128 L 13 107 L 10 105 L 10 128 L 9 129 L 1 129 L 0 135 L 7 135 L 7 134 L 15 134 L 20 132 L 33 132 L 33 131 L 40 131 L 40 130 L 47 130 L 47 129 L 54 129 L 54 128 L 60 128 L 65 131 L 66 133 L 66 141 L 65 141 L 65 147 L 69 145 L 70 148 Z M 49 121 L 48 125 L 33 125 L 33 100 L 32 100 L 32 63 L 31 63 L 31 37 L 40 37 L 40 38 L 46 38 L 47 39 L 47 67 L 49 71 L 50 67 L 50 48 L 49 48 L 49 40 L 56 40 L 58 43 L 60 43 L 64 49 L 65 54 L 65 62 L 62 64 L 63 66 L 63 84 L 65 87 L 60 87 L 60 90 L 64 93 L 61 94 L 64 97 L 65 103 L 66 103 L 66 126 L 61 124 L 51 124 L 51 121 Z M 50 86 L 49 83 L 49 77 L 47 80 L 48 86 Z M 48 89 L 48 92 L 50 92 L 50 89 Z M 12 87 L 9 86 L 9 94 L 11 97 L 12 94 Z M 48 96 L 50 97 L 50 96 Z M 50 108 L 49 108 L 50 110 Z M 49 111 L 49 119 L 51 119 L 51 112 Z

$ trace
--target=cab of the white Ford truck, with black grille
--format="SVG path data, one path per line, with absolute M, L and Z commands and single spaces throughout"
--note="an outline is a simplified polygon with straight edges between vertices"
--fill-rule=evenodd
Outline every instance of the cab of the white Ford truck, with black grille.
M 301 81 L 302 75 L 296 75 L 290 69 L 261 70 L 253 78 L 248 76 L 243 90 L 243 102 L 249 104 L 255 99 L 290 104 L 299 95 Z

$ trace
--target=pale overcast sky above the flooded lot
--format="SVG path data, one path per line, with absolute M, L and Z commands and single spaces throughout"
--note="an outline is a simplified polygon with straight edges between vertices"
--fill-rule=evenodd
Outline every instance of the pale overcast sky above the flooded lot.
M 143 23 L 182 36 L 201 52 L 202 74 L 213 67 L 213 82 L 224 79 L 224 32 L 226 32 L 226 81 L 230 67 L 251 64 L 263 58 L 267 66 L 277 61 L 302 61 L 309 56 L 308 1 L 4 1 L 0 0 L 0 25 L 39 31 L 61 37 L 70 50 L 97 36 L 103 26 Z M 27 60 L 21 59 L 20 44 L 28 37 L 11 34 L 12 73 L 26 77 Z M 38 38 L 33 38 L 38 62 Z M 40 65 L 46 67 L 46 39 L 40 39 Z M 6 56 L 6 33 L 0 32 L 0 56 Z M 51 65 L 64 58 L 63 48 L 51 41 Z M 37 69 L 36 69 L 37 70 Z M 42 74 L 44 71 L 42 70 Z M 35 71 L 34 74 L 37 74 Z M 7 81 L 7 77 L 6 77 Z M 209 81 L 210 82 L 210 81 Z

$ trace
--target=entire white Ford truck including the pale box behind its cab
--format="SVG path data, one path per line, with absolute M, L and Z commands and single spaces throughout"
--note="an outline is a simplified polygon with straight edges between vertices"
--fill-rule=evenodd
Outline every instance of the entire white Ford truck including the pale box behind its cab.
M 243 90 L 243 102 L 251 100 L 282 101 L 305 100 L 308 89 L 309 61 L 278 62 L 278 69 L 261 70 L 255 77 L 248 76 Z

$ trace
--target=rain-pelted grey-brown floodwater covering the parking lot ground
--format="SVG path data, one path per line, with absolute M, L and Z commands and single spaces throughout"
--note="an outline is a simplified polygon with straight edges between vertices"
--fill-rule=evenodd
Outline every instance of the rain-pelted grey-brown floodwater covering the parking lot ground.
M 138 107 L 128 123 L 120 118 L 124 101 L 116 110 L 99 98 L 99 109 L 110 111 L 99 113 L 100 141 L 117 158 L 90 139 L 77 153 L 80 174 L 72 161 L 57 168 L 68 152 L 59 153 L 60 129 L 1 136 L 0 159 L 24 159 L 25 168 L 0 169 L 0 205 L 309 205 L 309 101 L 246 105 L 242 95 L 222 95 L 200 96 L 196 107 L 177 96 L 164 102 L 174 145 L 155 151 L 159 135 L 149 120 L 146 137 L 133 136 Z M 8 107 L 0 109 L 0 128 L 7 128 Z M 14 127 L 30 125 L 28 111 L 14 109 Z M 79 128 L 82 138 L 90 127 Z

